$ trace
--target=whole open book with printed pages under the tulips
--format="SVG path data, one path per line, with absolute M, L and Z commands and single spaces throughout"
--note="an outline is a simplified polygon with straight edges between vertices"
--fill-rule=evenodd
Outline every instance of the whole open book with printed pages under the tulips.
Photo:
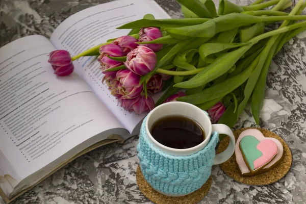
M 145 114 L 118 105 L 101 82 L 96 57 L 74 61 L 68 77 L 56 77 L 47 60 L 56 49 L 75 56 L 126 35 L 116 27 L 147 13 L 170 18 L 155 1 L 119 0 L 70 16 L 50 39 L 33 35 L 0 48 L 0 195 L 6 202 L 78 156 L 139 133 Z

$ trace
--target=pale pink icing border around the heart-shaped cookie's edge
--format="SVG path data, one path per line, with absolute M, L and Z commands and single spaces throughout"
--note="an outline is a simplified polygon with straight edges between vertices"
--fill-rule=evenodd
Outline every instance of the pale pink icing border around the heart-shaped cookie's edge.
M 259 130 L 257 129 L 248 129 L 248 130 L 245 130 L 243 131 L 237 141 L 236 141 L 236 147 L 235 147 L 235 155 L 236 155 L 236 162 L 240 168 L 240 171 L 242 174 L 245 174 L 245 173 L 249 173 L 250 170 L 248 169 L 247 165 L 245 164 L 244 160 L 243 160 L 243 157 L 242 157 L 242 153 L 240 151 L 240 148 L 239 148 L 239 143 L 241 141 L 241 139 L 247 135 L 252 135 L 254 137 L 256 137 L 259 141 L 261 140 L 264 140 L 264 139 L 267 139 Z M 283 156 L 283 152 L 284 152 L 284 148 L 283 148 L 283 145 L 281 142 L 279 142 L 279 140 L 275 139 L 275 138 L 269 138 L 270 140 L 274 141 L 278 147 L 278 152 L 277 152 L 277 155 L 274 157 L 274 159 L 269 163 L 267 164 L 267 166 L 264 167 L 264 169 L 266 168 L 270 168 L 273 164 L 275 164 L 278 160 L 280 160 Z

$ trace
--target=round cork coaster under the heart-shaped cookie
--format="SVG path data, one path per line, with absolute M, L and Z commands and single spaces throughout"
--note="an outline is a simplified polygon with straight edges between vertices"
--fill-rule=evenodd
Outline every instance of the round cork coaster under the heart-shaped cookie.
M 236 141 L 240 133 L 250 128 L 253 128 L 253 127 L 242 128 L 242 129 L 234 131 L 233 133 L 235 135 Z M 232 177 L 234 180 L 241 182 L 243 184 L 248 184 L 251 186 L 264 186 L 264 185 L 273 184 L 281 180 L 288 173 L 291 167 L 291 164 L 292 164 L 291 151 L 290 151 L 288 144 L 275 133 L 272 133 L 271 131 L 268 131 L 266 129 L 261 129 L 261 128 L 256 128 L 256 129 L 261 131 L 265 137 L 272 137 L 272 138 L 278 139 L 283 144 L 284 154 L 283 154 L 283 159 L 281 160 L 281 162 L 279 162 L 275 167 L 273 167 L 269 171 L 258 174 L 258 175 L 253 175 L 253 176 L 242 176 L 241 175 L 238 164 L 236 163 L 235 154 L 233 154 L 233 156 L 229 160 L 227 160 L 223 164 L 220 164 L 220 166 L 221 166 L 221 169 L 224 171 L 224 173 Z M 218 150 L 217 150 L 218 154 L 224 151 L 229 143 L 230 143 L 230 139 L 228 137 L 224 138 L 218 146 Z

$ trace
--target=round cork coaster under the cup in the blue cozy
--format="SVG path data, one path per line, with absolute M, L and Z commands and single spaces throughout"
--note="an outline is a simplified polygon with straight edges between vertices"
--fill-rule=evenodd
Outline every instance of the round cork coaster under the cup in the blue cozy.
M 200 200 L 202 200 L 208 193 L 209 189 L 212 186 L 213 180 L 212 176 L 209 177 L 207 182 L 198 190 L 194 191 L 193 193 L 190 193 L 185 196 L 180 197 L 171 197 L 163 195 L 156 190 L 154 190 L 144 179 L 140 166 L 137 167 L 136 170 L 136 181 L 137 185 L 142 192 L 142 194 L 151 200 L 152 202 L 156 204 L 193 204 L 198 203 Z

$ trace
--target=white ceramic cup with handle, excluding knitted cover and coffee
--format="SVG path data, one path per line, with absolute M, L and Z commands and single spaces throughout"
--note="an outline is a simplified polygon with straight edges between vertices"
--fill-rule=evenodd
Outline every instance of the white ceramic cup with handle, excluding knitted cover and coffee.
M 185 116 L 197 122 L 205 132 L 206 135 L 205 140 L 202 143 L 198 144 L 197 146 L 187 149 L 175 149 L 167 147 L 156 141 L 150 133 L 152 125 L 154 125 L 154 123 L 161 118 L 164 118 L 166 116 L 174 116 L 174 115 Z M 224 124 L 212 124 L 210 118 L 207 116 L 205 112 L 203 112 L 198 107 L 185 102 L 179 102 L 179 101 L 169 102 L 156 107 L 147 115 L 145 129 L 149 141 L 152 144 L 154 144 L 155 147 L 166 152 L 167 154 L 174 156 L 187 156 L 195 154 L 196 152 L 203 149 L 208 144 L 211 138 L 211 134 L 214 131 L 217 131 L 219 134 L 228 135 L 230 137 L 230 144 L 228 145 L 228 147 L 223 152 L 215 156 L 214 165 L 221 164 L 227 161 L 228 159 L 230 159 L 230 157 L 232 157 L 235 151 L 235 137 L 230 127 Z

